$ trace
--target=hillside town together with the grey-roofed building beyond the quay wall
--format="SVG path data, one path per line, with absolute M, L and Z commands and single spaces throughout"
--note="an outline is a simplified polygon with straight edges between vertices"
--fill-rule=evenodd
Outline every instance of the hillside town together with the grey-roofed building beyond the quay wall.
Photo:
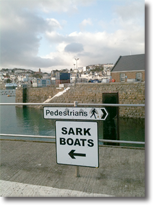
M 78 59 L 77 59 L 78 60 Z M 115 64 L 97 64 L 74 69 L 53 69 L 51 73 L 42 69 L 2 68 L 0 84 L 5 87 L 46 87 L 75 83 L 145 82 L 145 54 L 119 56 Z

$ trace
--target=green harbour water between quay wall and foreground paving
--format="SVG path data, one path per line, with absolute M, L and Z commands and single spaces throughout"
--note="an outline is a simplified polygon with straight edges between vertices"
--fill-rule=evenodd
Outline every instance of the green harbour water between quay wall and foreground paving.
M 10 91 L 10 92 L 9 92 Z M 15 90 L 0 90 L 1 103 L 14 103 Z M 98 121 L 99 138 L 103 138 L 103 121 Z M 42 135 L 55 136 L 55 120 L 44 119 L 43 110 L 36 108 L 22 108 L 16 106 L 0 106 L 0 134 L 22 134 L 22 135 Z M 119 119 L 119 137 L 120 140 L 127 141 L 145 141 L 145 120 L 144 119 Z M 26 139 L 34 141 L 50 141 L 54 139 L 45 138 L 21 138 L 4 137 L 0 139 Z M 128 144 L 120 144 L 128 146 Z M 144 145 L 133 145 L 140 146 Z

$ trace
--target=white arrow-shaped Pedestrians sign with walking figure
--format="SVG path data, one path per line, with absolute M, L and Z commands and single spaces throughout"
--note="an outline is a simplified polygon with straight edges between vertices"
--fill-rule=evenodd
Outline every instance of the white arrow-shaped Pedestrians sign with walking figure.
M 44 107 L 45 119 L 105 120 L 107 116 L 105 108 Z

